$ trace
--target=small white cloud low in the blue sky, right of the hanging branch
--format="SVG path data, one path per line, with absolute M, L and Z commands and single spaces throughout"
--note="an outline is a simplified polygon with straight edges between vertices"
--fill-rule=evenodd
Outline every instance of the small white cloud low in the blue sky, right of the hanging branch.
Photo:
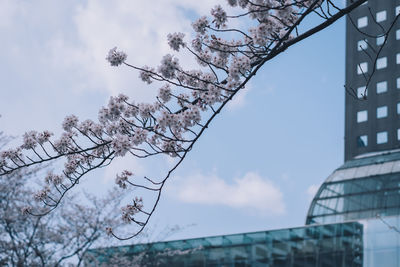
M 275 215 L 285 212 L 279 188 L 254 172 L 248 172 L 231 183 L 215 174 L 176 177 L 167 193 L 186 203 L 253 209 Z

